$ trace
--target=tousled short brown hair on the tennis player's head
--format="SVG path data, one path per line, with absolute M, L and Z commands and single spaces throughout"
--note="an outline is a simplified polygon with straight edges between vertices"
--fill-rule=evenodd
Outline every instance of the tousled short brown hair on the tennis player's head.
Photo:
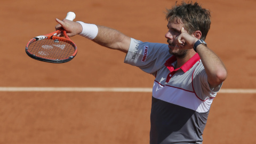
M 198 3 L 182 2 L 180 5 L 172 7 L 167 10 L 166 19 L 168 21 L 182 22 L 185 25 L 185 29 L 189 34 L 194 33 L 196 30 L 200 30 L 202 33 L 201 39 L 205 40 L 206 35 L 211 25 L 210 10 L 203 9 Z

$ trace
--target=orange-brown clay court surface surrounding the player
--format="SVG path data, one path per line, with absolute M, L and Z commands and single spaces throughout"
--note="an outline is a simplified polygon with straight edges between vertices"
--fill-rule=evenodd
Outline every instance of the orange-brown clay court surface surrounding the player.
M 256 143 L 255 0 L 198 1 L 212 11 L 206 42 L 228 69 L 214 99 L 204 144 Z M 178 1 L 180 3 L 180 1 Z M 1 1 L 1 87 L 141 87 L 154 77 L 123 63 L 125 54 L 81 36 L 74 60 L 27 56 L 29 39 L 54 31 L 68 11 L 141 41 L 166 43 L 167 0 Z M 232 89 L 232 93 L 224 90 Z M 245 90 L 244 92 L 238 89 Z M 241 93 L 239 93 L 241 92 Z M 0 143 L 149 143 L 150 92 L 0 91 Z

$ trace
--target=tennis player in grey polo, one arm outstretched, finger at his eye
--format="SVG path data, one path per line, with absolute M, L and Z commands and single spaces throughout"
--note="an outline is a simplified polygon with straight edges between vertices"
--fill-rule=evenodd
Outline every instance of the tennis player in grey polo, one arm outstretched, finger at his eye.
M 125 52 L 125 63 L 153 75 L 150 143 L 188 144 L 203 142 L 211 103 L 227 77 L 223 62 L 205 42 L 210 17 L 198 3 L 176 3 L 166 14 L 167 44 L 141 42 L 82 21 L 56 19 L 55 28 Z

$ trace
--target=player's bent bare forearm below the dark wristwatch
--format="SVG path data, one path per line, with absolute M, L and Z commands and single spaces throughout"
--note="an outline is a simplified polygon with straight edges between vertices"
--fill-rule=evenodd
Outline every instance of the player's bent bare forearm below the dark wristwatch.
M 204 65 L 210 86 L 215 87 L 225 81 L 227 70 L 220 58 L 203 44 L 198 45 L 196 50 Z

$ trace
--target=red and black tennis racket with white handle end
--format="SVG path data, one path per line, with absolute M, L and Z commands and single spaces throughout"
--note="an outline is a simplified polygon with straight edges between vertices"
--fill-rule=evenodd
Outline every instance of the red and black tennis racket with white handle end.
M 75 17 L 74 12 L 68 12 L 66 19 L 73 21 Z M 64 37 L 58 36 L 61 33 Z M 52 63 L 68 62 L 77 53 L 76 44 L 71 41 L 64 29 L 30 39 L 25 50 L 30 58 Z

